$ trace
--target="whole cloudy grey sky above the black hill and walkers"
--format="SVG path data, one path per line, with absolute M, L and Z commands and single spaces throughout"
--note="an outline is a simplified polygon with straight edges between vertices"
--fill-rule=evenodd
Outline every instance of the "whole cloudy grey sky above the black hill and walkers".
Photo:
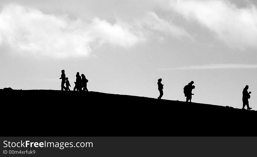
M 0 88 L 89 91 L 257 110 L 253 0 L 0 0 Z

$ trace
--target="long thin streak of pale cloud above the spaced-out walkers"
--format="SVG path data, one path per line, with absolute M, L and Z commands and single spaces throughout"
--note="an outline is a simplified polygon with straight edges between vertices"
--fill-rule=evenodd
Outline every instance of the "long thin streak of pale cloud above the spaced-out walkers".
M 165 70 L 193 70 L 193 69 L 257 69 L 257 65 L 250 64 L 210 64 L 210 65 L 192 65 L 187 67 L 163 68 Z

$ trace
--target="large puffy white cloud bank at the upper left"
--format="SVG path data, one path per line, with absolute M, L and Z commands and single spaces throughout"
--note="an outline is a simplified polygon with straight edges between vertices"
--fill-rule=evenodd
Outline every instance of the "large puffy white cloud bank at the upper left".
M 18 53 L 88 56 L 93 42 L 129 47 L 141 41 L 141 34 L 129 27 L 99 18 L 86 23 L 19 5 L 4 6 L 0 12 L 0 46 L 6 44 Z

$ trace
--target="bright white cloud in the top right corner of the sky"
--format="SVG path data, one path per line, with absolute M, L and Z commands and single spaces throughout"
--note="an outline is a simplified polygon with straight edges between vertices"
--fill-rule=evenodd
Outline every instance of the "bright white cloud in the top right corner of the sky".
M 189 21 L 197 20 L 230 47 L 257 47 L 256 6 L 238 8 L 222 0 L 171 0 L 170 7 Z

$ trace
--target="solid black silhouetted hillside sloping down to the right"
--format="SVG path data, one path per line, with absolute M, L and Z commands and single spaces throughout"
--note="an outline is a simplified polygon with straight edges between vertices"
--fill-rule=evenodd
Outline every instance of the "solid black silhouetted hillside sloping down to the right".
M 147 97 L 0 90 L 4 136 L 256 136 L 257 111 Z

